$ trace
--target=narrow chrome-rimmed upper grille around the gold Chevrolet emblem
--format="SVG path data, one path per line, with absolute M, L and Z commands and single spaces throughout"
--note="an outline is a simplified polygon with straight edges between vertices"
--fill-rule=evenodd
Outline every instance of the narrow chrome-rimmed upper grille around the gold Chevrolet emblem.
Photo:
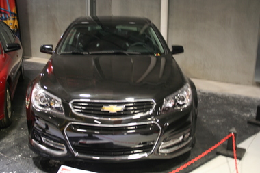
M 121 110 L 114 112 L 104 111 L 103 107 L 122 107 Z M 86 116 L 105 116 L 105 117 L 118 117 L 118 116 L 134 116 L 136 114 L 151 114 L 155 107 L 154 101 L 72 101 L 70 107 L 76 114 Z

